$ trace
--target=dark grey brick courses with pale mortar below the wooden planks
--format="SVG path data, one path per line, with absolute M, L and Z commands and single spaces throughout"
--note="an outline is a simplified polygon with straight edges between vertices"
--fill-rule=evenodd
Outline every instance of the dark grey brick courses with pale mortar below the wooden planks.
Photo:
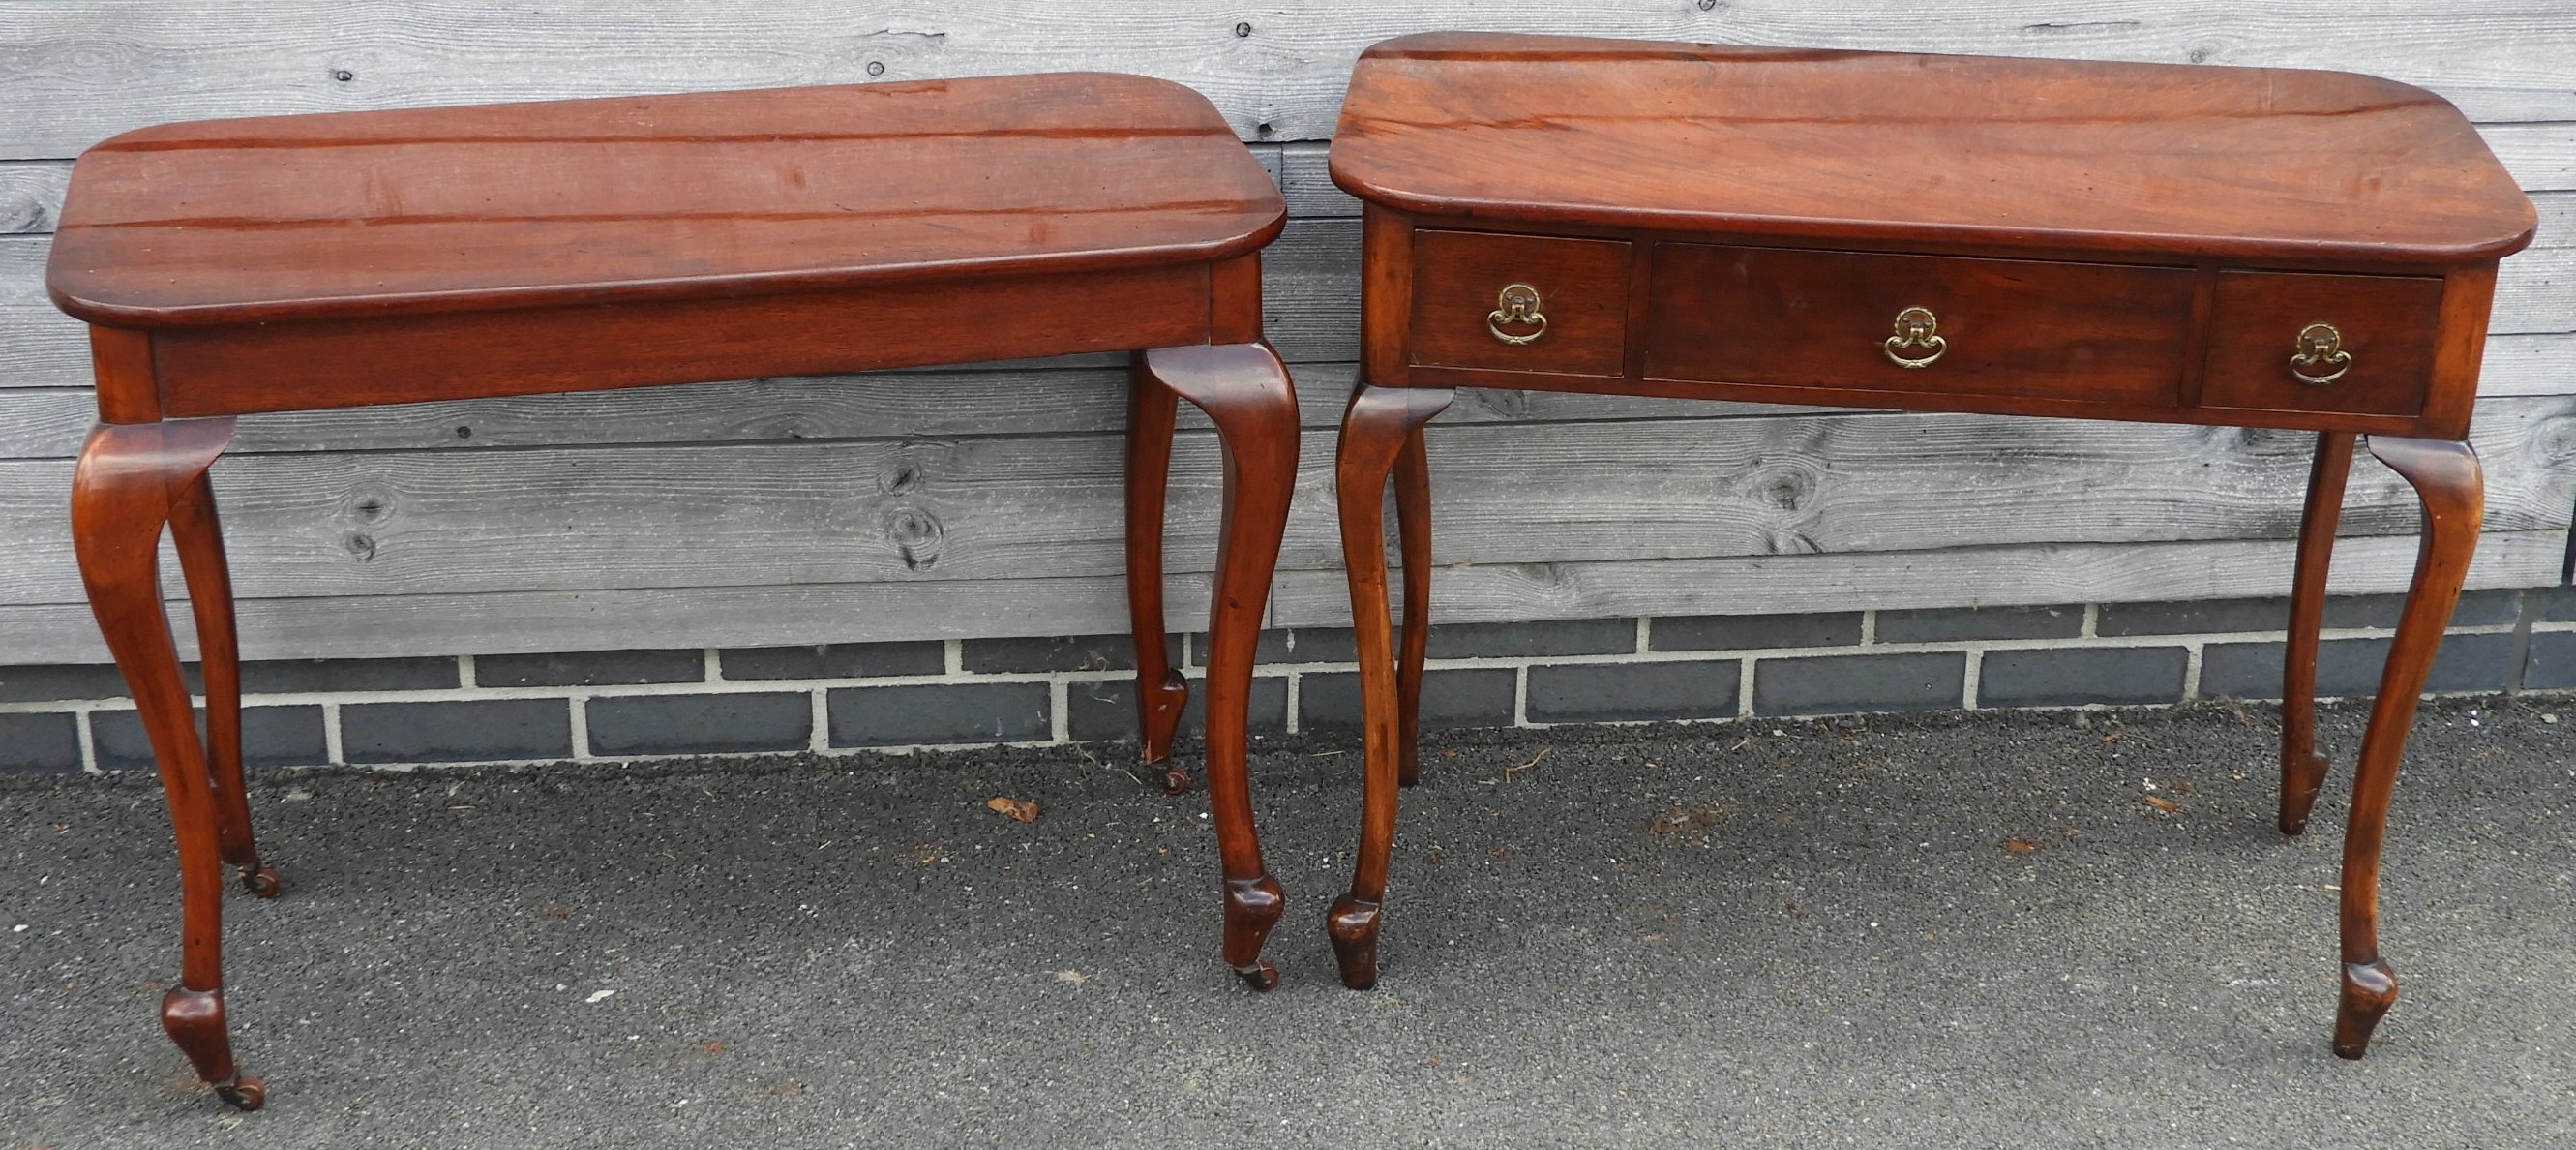
M 2398 596 L 2326 606 L 2367 696 Z M 1432 627 L 1425 727 L 2277 699 L 2285 598 Z M 1206 637 L 1175 637 L 1198 678 Z M 1126 637 L 608 650 L 242 668 L 252 766 L 618 761 L 1133 740 Z M 193 668 L 191 668 L 193 670 Z M 2460 596 L 2429 691 L 2576 691 L 2576 588 Z M 1188 730 L 1198 730 L 1193 694 Z M 1360 722 L 1347 629 L 1267 632 L 1255 735 Z M 0 668 L 0 771 L 152 766 L 108 665 Z

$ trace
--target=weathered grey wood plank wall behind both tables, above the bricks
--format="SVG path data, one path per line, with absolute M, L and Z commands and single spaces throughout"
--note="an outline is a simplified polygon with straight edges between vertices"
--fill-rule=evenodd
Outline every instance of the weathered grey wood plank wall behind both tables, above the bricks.
M 1358 351 L 1358 206 L 1324 178 L 1324 139 L 1352 57 L 1422 28 L 2339 67 L 2439 90 L 2543 214 L 2496 297 L 2470 580 L 2558 580 L 2576 503 L 2566 0 L 0 0 L 0 663 L 103 660 L 62 523 L 88 356 L 41 286 L 82 147 L 173 119 L 1038 70 L 1188 83 L 1280 175 L 1267 322 L 1309 438 L 1273 616 L 1347 621 L 1327 459 Z M 250 418 L 216 485 L 245 645 L 268 658 L 1118 632 L 1121 420 L 1123 374 L 1097 356 L 755 379 Z M 1520 392 L 1471 392 L 1432 456 L 1440 616 L 1458 621 L 2277 593 L 2306 474 L 2306 438 L 2280 433 Z M 2411 500 L 2372 464 L 2354 480 L 2336 585 L 2398 588 Z M 1213 436 L 1190 423 L 1182 627 L 1213 487 Z

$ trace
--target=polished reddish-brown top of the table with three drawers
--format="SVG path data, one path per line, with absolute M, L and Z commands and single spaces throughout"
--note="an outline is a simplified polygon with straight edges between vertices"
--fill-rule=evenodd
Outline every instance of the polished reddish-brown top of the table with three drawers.
M 2530 199 L 2349 72 L 1425 34 L 1360 57 L 1345 191 L 1435 217 L 1857 248 L 2455 266 Z

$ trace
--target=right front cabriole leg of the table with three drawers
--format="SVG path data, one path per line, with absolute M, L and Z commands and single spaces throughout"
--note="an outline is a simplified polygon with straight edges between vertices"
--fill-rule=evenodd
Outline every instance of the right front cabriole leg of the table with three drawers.
M 2370 1031 L 2398 998 L 2396 972 L 2380 957 L 2380 833 L 2388 828 L 2388 794 L 2414 727 L 2416 691 L 2424 691 L 2424 673 L 2442 647 L 2486 513 L 2486 477 L 2468 443 L 2370 436 L 2370 454 L 2414 485 L 2424 503 L 2424 541 L 2416 549 L 2414 585 L 2406 588 L 2406 614 L 2388 647 L 2388 668 L 2380 670 L 2380 696 L 2370 707 L 2370 732 L 2362 735 L 2362 755 L 2352 768 L 2342 897 L 2344 993 L 2334 1011 L 2334 1052 L 2342 1057 L 2370 1049 Z

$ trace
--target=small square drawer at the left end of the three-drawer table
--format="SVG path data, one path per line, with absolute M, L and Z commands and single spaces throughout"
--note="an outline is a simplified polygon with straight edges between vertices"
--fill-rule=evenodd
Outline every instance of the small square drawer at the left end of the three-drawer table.
M 1615 376 L 1628 348 L 1628 245 L 1414 232 L 1414 366 Z

